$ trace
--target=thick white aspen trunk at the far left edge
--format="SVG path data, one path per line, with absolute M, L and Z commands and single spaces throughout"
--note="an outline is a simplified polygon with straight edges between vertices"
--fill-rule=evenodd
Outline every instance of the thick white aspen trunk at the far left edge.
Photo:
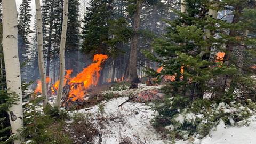
M 20 62 L 18 56 L 18 12 L 15 0 L 3 0 L 3 52 L 6 70 L 6 83 L 9 93 L 18 95 L 19 100 L 9 107 L 9 118 L 12 134 L 20 135 L 17 131 L 23 126 L 22 91 Z M 22 143 L 23 138 L 14 141 L 14 144 Z

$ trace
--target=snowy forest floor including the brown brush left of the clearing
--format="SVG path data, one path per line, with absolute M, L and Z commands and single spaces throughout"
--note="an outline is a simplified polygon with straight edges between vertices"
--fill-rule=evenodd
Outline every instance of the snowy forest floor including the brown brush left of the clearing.
M 151 120 L 156 111 L 151 109 L 153 103 L 141 103 L 136 100 L 127 101 L 133 95 L 146 90 L 160 89 L 163 85 L 146 86 L 139 84 L 138 89 L 110 89 L 109 86 L 102 90 L 104 95 L 114 95 L 102 100 L 94 106 L 72 110 L 71 116 L 86 118 L 86 122 L 79 122 L 74 130 L 72 121 L 67 121 L 66 131 L 74 135 L 74 143 L 101 143 L 101 144 L 130 144 L 130 143 L 173 143 L 165 139 L 166 135 L 157 132 L 151 125 Z M 52 100 L 53 101 L 53 100 Z M 125 102 L 122 106 L 123 102 Z M 255 143 L 256 141 L 256 116 L 251 117 L 251 124 L 243 127 L 225 126 L 220 121 L 215 131 L 211 131 L 203 139 L 191 138 L 187 141 L 177 140 L 178 144 L 241 144 Z M 77 130 L 78 129 L 78 130 Z M 86 134 L 87 133 L 87 134 Z M 89 135 L 88 135 L 89 133 Z M 87 142 L 85 142 L 85 140 Z M 90 141 L 90 142 L 89 142 Z

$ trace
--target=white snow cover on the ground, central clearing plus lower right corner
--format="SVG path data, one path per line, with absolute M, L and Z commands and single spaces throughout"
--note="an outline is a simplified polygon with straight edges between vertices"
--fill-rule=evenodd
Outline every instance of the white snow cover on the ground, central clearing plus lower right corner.
M 122 91 L 105 91 L 103 93 L 117 93 L 119 95 L 131 95 L 139 93 L 147 89 L 159 89 L 159 86 L 139 85 L 138 89 L 127 89 Z M 121 103 L 127 100 L 128 97 L 114 98 L 109 101 L 102 101 L 99 105 L 103 105 L 104 113 L 102 117 L 107 118 L 107 122 L 102 127 L 98 127 L 102 133 L 102 144 L 119 144 L 122 139 L 130 139 L 132 143 L 171 143 L 161 138 L 161 135 L 156 132 L 151 126 L 150 120 L 156 114 L 150 109 L 150 106 L 144 103 L 126 102 L 121 107 Z M 99 105 L 91 107 L 90 110 L 81 109 L 72 113 L 91 113 L 94 114 L 94 123 L 97 124 L 99 117 Z M 175 141 L 178 144 L 246 144 L 256 143 L 256 122 L 251 122 L 250 126 L 244 127 L 226 127 L 223 121 L 217 126 L 216 131 L 210 132 L 205 138 L 190 139 L 187 141 Z M 99 138 L 95 138 L 95 143 L 98 143 Z

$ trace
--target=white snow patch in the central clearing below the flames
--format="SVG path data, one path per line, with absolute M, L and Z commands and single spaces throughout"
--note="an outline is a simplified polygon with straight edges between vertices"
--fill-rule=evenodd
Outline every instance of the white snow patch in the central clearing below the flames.
M 149 106 L 143 103 L 127 102 L 123 106 L 118 107 L 121 103 L 127 100 L 128 97 L 115 98 L 110 101 L 103 101 L 104 105 L 103 116 L 107 118 L 107 123 L 100 129 L 102 133 L 102 144 L 119 144 L 122 138 L 130 138 L 133 143 L 164 143 L 161 140 L 161 135 L 157 134 L 154 127 L 151 126 L 150 120 L 155 112 Z M 99 104 L 100 105 L 100 104 Z M 81 109 L 73 111 L 73 113 L 92 113 L 97 124 L 97 114 L 99 114 L 98 106 L 85 111 Z M 98 143 L 98 140 L 95 140 Z

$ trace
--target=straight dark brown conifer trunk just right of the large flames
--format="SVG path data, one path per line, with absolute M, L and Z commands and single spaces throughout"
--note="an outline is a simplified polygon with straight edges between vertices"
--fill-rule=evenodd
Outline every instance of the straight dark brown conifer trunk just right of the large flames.
M 140 26 L 140 14 L 142 9 L 142 0 L 136 1 L 136 11 L 134 14 L 133 22 L 133 37 L 131 40 L 131 51 L 130 51 L 130 72 L 129 72 L 129 81 L 130 83 L 139 83 L 140 80 L 137 74 L 137 44 L 138 44 L 138 30 Z

